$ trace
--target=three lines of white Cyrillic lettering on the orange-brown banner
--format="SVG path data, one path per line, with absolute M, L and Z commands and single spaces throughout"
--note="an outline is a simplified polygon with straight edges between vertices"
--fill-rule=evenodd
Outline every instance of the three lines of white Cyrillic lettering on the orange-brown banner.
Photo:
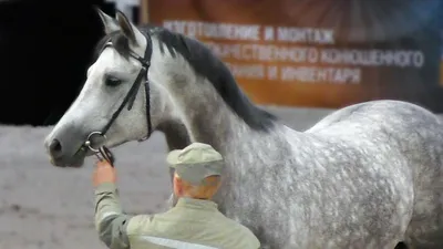
M 334 32 L 328 29 L 181 20 L 166 20 L 163 25 L 205 41 L 234 76 L 241 79 L 358 84 L 362 77 L 359 66 L 404 69 L 425 63 L 422 51 L 316 48 L 315 44 L 334 44 Z

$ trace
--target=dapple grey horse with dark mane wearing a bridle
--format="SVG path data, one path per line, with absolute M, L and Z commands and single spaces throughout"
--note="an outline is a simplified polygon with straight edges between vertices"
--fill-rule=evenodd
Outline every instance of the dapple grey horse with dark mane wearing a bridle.
M 120 11 L 97 13 L 105 35 L 96 60 L 44 139 L 53 165 L 82 166 L 97 146 L 145 139 L 175 122 L 190 142 L 224 156 L 214 201 L 262 248 L 442 248 L 443 122 L 435 114 L 378 100 L 295 131 L 255 105 L 203 42 L 135 25 Z

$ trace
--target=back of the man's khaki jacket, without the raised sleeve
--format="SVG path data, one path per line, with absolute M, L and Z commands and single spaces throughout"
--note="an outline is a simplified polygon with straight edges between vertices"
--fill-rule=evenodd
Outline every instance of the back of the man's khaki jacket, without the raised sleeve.
M 132 248 L 258 249 L 260 245 L 248 228 L 219 212 L 215 203 L 190 198 L 179 198 L 164 214 L 134 217 L 127 232 Z

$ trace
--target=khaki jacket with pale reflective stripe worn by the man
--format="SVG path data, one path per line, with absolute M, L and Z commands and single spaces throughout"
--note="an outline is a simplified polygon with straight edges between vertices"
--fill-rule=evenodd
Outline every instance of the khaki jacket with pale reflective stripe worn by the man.
M 209 200 L 179 198 L 157 215 L 122 212 L 114 184 L 95 189 L 95 228 L 111 249 L 258 249 L 260 242 L 245 226 L 226 218 Z

